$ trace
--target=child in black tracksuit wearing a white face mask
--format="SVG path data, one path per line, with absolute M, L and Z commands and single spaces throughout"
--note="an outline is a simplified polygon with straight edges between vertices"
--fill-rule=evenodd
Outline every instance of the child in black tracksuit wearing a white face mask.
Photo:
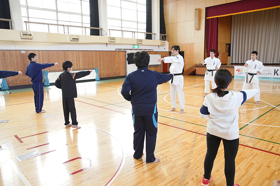
M 89 75 L 91 71 L 83 71 L 77 73 L 70 73 L 72 70 L 72 62 L 71 61 L 64 61 L 62 64 L 62 68 L 64 70 L 61 73 L 57 80 L 55 81 L 54 85 L 57 88 L 62 90 L 62 104 L 63 104 L 63 113 L 64 113 L 64 125 L 66 127 L 72 126 L 72 128 L 79 129 L 81 128 L 77 122 L 77 115 L 76 115 L 76 108 L 74 98 L 77 98 L 77 87 L 76 87 L 76 79 L 85 77 Z M 71 114 L 72 125 L 69 122 L 69 112 Z

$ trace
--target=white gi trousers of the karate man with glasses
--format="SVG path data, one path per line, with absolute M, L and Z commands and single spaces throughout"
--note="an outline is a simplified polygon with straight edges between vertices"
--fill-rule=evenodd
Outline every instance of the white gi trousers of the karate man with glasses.
M 185 109 L 185 97 L 184 97 L 184 91 L 183 91 L 183 85 L 173 85 L 170 83 L 170 101 L 172 108 L 177 108 L 177 102 L 176 102 L 176 91 L 178 94 L 178 100 L 179 100 L 179 108 L 181 110 Z

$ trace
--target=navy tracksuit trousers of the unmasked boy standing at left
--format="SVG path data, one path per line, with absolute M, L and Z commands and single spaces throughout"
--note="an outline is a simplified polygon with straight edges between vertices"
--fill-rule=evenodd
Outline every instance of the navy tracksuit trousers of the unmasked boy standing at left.
M 35 110 L 37 113 L 40 113 L 42 111 L 44 102 L 43 82 L 32 83 L 32 89 L 34 91 Z

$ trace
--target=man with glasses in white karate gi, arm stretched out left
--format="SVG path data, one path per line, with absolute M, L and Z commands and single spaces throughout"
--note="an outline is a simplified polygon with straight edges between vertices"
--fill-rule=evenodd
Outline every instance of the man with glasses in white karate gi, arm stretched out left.
M 176 91 L 178 94 L 178 100 L 179 100 L 179 108 L 180 114 L 184 113 L 185 109 L 185 97 L 184 97 L 184 77 L 183 77 L 183 68 L 184 68 L 184 58 L 179 54 L 180 47 L 178 45 L 174 45 L 171 47 L 171 52 L 174 56 L 164 57 L 161 59 L 158 59 L 157 61 L 160 62 L 163 60 L 164 63 L 172 63 L 169 72 L 174 74 L 174 78 L 172 78 L 170 83 L 170 101 L 172 108 L 169 110 L 175 111 L 177 108 L 177 102 L 176 102 Z

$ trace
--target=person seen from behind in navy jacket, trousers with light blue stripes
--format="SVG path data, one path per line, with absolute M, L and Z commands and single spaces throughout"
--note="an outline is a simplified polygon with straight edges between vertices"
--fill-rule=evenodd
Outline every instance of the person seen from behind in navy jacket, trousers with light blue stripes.
M 156 163 L 160 161 L 154 156 L 158 114 L 156 87 L 169 81 L 174 75 L 148 70 L 150 56 L 146 51 L 136 52 L 133 60 L 138 68 L 126 76 L 121 91 L 124 99 L 132 104 L 133 157 L 142 157 L 146 133 L 146 163 Z

